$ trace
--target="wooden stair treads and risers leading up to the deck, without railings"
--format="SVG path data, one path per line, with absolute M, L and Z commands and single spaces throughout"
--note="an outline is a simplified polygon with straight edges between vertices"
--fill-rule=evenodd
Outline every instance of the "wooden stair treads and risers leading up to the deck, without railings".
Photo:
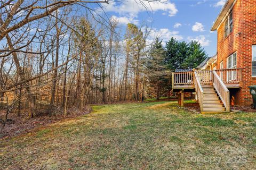
M 213 86 L 203 86 L 202 89 L 204 91 L 202 113 L 220 113 L 226 111 Z

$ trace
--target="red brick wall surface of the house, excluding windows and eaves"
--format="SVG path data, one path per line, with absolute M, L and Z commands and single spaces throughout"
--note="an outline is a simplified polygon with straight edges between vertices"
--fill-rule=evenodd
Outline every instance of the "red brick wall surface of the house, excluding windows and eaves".
M 242 88 L 235 96 L 235 104 L 251 105 L 252 97 L 248 86 L 256 84 L 252 78 L 252 45 L 256 44 L 256 0 L 237 0 L 233 6 L 233 31 L 227 38 L 223 36 L 222 23 L 218 28 L 217 40 L 217 68 L 220 62 L 227 66 L 227 57 L 237 52 L 237 68 L 243 68 Z M 241 32 L 241 35 L 237 33 Z

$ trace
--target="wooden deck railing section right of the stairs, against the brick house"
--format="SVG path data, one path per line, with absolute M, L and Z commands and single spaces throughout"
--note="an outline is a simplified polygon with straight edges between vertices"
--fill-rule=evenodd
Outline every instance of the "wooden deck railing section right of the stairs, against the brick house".
M 228 86 L 239 85 L 242 83 L 242 69 L 222 69 L 215 70 L 222 82 Z

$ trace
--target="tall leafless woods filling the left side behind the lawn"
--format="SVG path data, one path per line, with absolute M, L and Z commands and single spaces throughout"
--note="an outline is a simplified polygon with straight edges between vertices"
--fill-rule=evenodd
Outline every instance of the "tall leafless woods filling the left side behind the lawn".
M 2 125 L 10 112 L 61 107 L 66 116 L 70 107 L 143 99 L 149 31 L 122 30 L 104 14 L 108 2 L 0 1 Z

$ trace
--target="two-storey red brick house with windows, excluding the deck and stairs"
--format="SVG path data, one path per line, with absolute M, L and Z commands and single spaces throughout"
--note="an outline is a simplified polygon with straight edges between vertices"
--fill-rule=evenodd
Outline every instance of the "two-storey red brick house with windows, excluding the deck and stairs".
M 256 84 L 256 0 L 228 0 L 212 26 L 211 31 L 216 30 L 217 69 L 242 68 L 241 87 L 231 89 L 230 96 L 235 105 L 251 105 L 248 86 Z

